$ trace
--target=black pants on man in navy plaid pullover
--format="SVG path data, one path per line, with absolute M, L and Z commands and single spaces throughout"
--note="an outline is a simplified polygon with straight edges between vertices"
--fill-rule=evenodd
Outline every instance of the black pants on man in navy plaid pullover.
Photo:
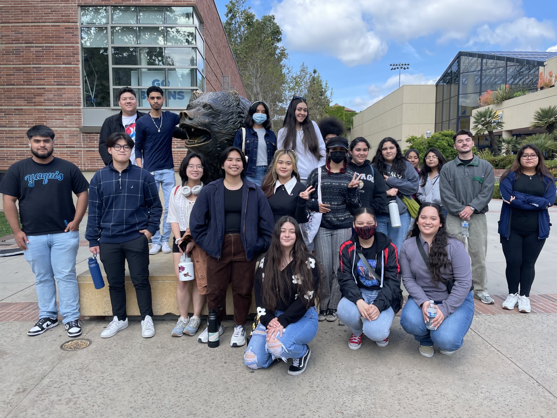
M 126 314 L 126 289 L 124 287 L 124 261 L 128 260 L 131 283 L 134 284 L 141 320 L 153 316 L 151 284 L 149 283 L 149 243 L 145 235 L 119 244 L 99 242 L 100 257 L 109 284 L 112 314 L 119 320 Z

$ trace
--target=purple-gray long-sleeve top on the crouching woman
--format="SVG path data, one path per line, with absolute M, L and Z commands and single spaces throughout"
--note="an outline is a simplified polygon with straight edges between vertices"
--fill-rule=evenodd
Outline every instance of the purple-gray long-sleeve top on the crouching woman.
M 426 241 L 420 237 L 423 249 L 429 252 Z M 400 270 L 402 271 L 402 283 L 414 302 L 421 306 L 428 300 L 439 302 L 444 317 L 460 307 L 472 286 L 472 266 L 470 256 L 461 241 L 456 238 L 447 239 L 447 256 L 451 263 L 452 272 L 441 270 L 443 279 L 455 278 L 455 285 L 451 294 L 447 291 L 444 283 L 434 283 L 431 273 L 418 250 L 416 237 L 405 240 L 400 247 Z

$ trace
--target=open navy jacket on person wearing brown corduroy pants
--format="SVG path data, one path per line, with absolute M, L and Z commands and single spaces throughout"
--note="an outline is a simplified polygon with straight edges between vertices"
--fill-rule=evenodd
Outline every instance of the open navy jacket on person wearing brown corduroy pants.
M 247 260 L 271 245 L 275 219 L 265 193 L 243 179 L 240 239 Z M 222 178 L 201 189 L 189 216 L 189 230 L 203 251 L 220 259 L 224 240 L 224 182 Z

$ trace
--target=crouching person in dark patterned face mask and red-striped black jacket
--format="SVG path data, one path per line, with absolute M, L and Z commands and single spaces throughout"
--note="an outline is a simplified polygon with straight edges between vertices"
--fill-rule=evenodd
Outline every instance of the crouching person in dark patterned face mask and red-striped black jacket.
M 352 331 L 351 350 L 361 347 L 364 334 L 385 347 L 394 315 L 402 307 L 397 249 L 387 235 L 375 230 L 370 208 L 356 210 L 353 226 L 356 234 L 340 246 L 339 319 Z

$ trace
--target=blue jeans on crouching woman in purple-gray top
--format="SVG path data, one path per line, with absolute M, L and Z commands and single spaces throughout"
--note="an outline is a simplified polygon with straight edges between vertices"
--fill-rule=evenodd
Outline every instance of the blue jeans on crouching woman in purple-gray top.
M 437 302 L 436 302 L 437 304 Z M 462 305 L 450 314 L 437 329 L 429 330 L 423 320 L 420 308 L 411 296 L 402 308 L 400 325 L 408 334 L 412 334 L 421 346 L 433 346 L 446 351 L 455 351 L 462 347 L 464 336 L 472 325 L 474 317 L 474 298 L 468 293 Z

